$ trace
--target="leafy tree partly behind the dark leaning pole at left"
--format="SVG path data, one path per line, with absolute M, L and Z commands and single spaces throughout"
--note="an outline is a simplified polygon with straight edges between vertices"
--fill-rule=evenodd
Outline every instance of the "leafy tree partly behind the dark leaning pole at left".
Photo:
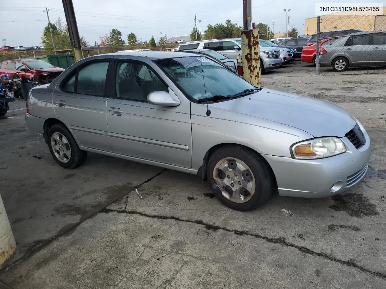
M 54 38 L 55 49 L 70 49 L 70 35 L 68 33 L 67 25 L 65 25 L 61 18 L 56 18 L 54 24 L 51 24 L 52 29 L 52 37 Z M 51 40 L 51 32 L 49 29 L 49 25 L 44 27 L 43 35 L 42 35 L 42 44 L 44 45 L 44 49 L 48 51 L 53 51 L 54 47 L 52 46 Z M 88 42 L 84 37 L 80 37 L 80 44 L 82 47 L 87 47 Z

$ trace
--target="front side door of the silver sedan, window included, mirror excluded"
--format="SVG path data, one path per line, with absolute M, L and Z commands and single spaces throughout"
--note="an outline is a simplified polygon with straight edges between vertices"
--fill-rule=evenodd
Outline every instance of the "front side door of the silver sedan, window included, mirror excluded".
M 120 155 L 191 168 L 190 105 L 150 104 L 147 95 L 153 91 L 174 94 L 148 64 L 116 59 L 115 97 L 107 101 L 112 150 Z

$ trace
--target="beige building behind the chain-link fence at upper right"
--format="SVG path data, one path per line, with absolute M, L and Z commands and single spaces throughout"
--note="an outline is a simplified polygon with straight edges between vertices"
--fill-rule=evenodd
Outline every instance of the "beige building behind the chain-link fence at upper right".
M 320 32 L 345 29 L 386 30 L 386 7 L 383 7 L 383 15 L 379 16 L 339 15 L 339 13 L 320 16 Z M 305 35 L 315 33 L 317 33 L 317 17 L 305 19 Z

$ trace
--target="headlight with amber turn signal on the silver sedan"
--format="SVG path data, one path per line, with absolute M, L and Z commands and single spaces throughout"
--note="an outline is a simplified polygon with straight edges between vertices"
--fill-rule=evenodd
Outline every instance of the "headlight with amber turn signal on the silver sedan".
M 291 148 L 293 158 L 317 159 L 339 155 L 346 151 L 344 143 L 334 136 L 296 143 Z

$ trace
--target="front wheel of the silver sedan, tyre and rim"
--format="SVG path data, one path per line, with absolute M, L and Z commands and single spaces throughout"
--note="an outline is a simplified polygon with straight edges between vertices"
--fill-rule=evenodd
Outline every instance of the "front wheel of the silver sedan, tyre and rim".
M 275 187 L 264 158 L 242 146 L 223 146 L 215 151 L 209 158 L 207 174 L 220 202 L 238 211 L 264 205 Z

